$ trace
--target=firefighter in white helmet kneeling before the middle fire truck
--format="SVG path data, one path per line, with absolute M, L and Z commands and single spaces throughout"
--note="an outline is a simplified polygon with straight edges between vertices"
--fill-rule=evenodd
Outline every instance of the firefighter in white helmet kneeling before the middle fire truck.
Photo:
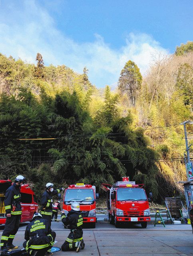
M 71 211 L 66 215 L 62 212 L 61 219 L 64 223 L 64 227 L 70 228 L 70 234 L 64 244 L 62 244 L 62 251 L 76 250 L 80 251 L 80 247 L 84 249 L 85 244 L 82 239 L 83 231 L 83 218 L 80 212 L 80 204 L 78 202 L 73 202 L 71 205 Z

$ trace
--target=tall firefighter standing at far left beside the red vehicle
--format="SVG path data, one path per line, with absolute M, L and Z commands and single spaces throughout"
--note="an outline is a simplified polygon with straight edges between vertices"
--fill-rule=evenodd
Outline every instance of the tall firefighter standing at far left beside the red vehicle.
M 24 182 L 24 176 L 18 175 L 14 184 L 6 190 L 4 204 L 7 218 L 0 241 L 2 251 L 18 248 L 18 246 L 13 245 L 13 240 L 18 232 L 22 214 L 20 187 Z

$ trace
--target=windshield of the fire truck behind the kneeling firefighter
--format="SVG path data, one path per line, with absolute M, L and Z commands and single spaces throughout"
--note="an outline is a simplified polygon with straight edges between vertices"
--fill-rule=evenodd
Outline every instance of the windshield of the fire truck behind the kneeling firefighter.
M 64 202 L 68 202 L 72 204 L 72 202 L 80 202 L 83 204 L 90 204 L 94 200 L 94 192 L 89 188 L 75 188 L 75 189 L 67 189 L 65 193 Z

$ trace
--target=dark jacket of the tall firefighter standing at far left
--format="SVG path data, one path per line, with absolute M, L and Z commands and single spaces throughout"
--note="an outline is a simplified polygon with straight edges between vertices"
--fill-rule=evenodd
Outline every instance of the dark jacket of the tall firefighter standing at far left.
M 4 200 L 6 214 L 11 213 L 12 215 L 21 215 L 22 208 L 20 200 L 20 186 L 17 186 L 16 183 L 14 183 L 6 190 Z

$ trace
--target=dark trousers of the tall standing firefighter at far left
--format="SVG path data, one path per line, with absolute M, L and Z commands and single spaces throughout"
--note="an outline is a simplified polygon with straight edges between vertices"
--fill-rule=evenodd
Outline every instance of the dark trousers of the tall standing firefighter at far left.
M 11 215 L 6 218 L 0 246 L 11 245 L 20 225 L 21 215 Z

